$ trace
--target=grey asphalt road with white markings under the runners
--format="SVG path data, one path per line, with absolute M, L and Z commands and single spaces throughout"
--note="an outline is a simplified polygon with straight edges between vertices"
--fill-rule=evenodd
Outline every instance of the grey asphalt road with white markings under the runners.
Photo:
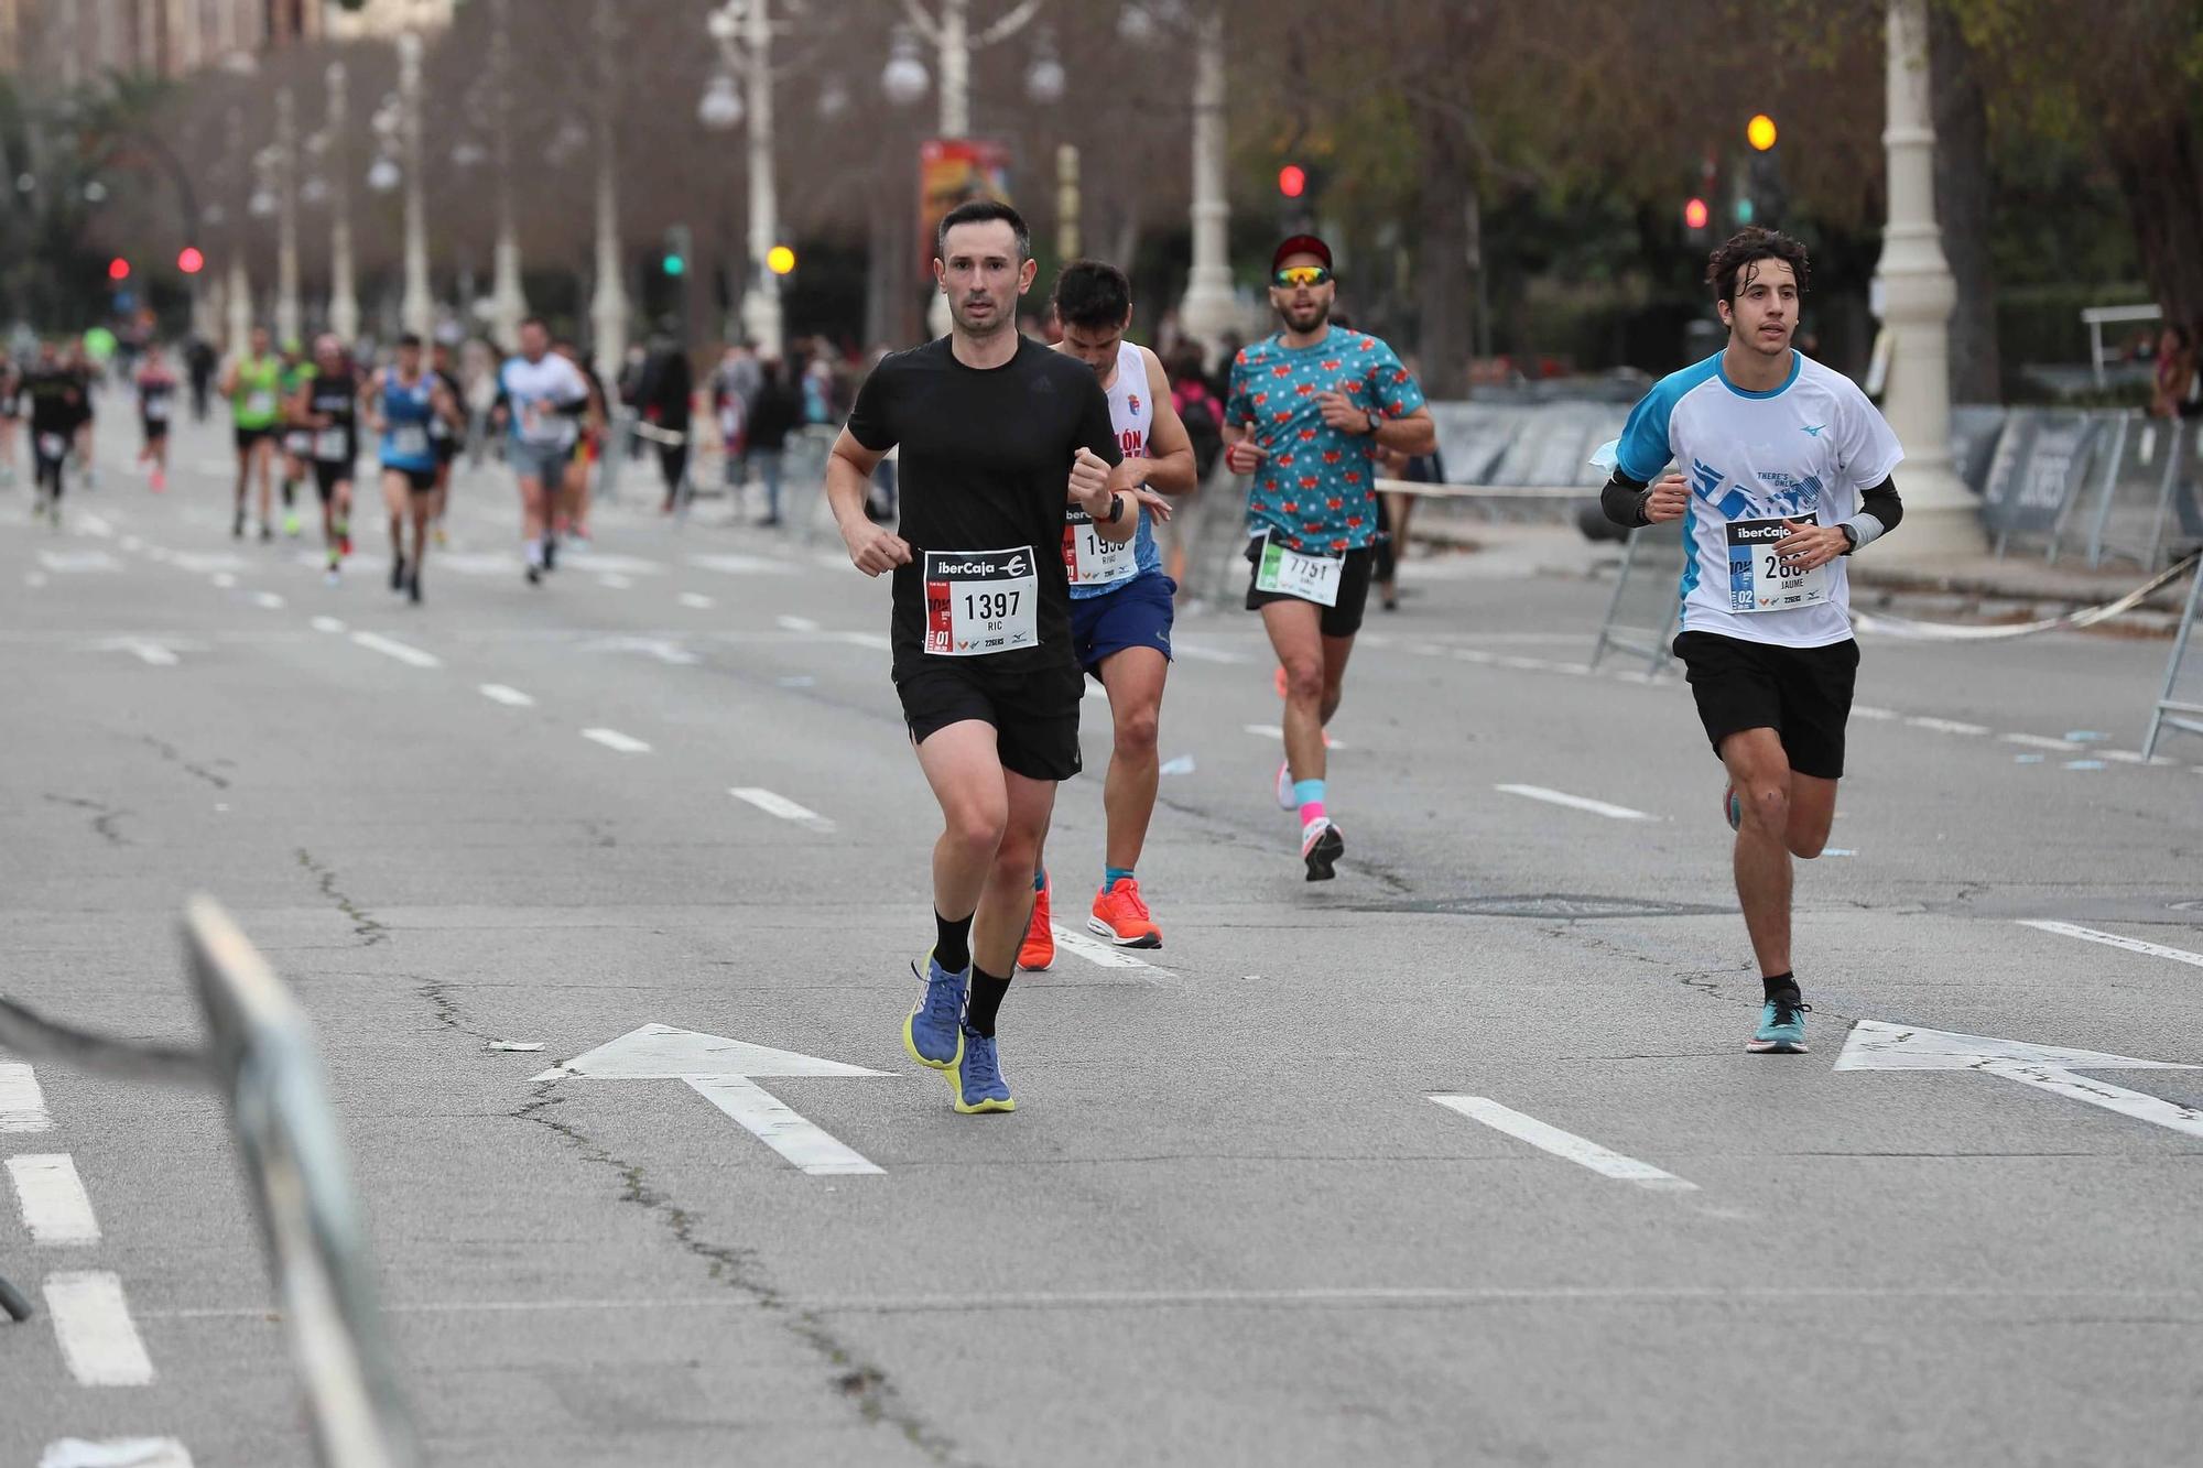
M 319 1025 L 434 1464 L 2194 1461 L 2203 1069 L 2022 1049 L 2203 1067 L 2161 641 L 1866 644 L 1813 1054 L 1767 1058 L 1718 767 L 1679 679 L 1582 668 L 1604 584 L 1410 566 L 1331 886 L 1258 624 L 1181 619 L 1165 946 L 1020 976 L 1018 1113 L 958 1118 L 899 1043 L 936 816 L 883 584 L 630 476 L 529 589 L 491 465 L 410 608 L 375 514 L 324 586 L 311 533 L 229 540 L 223 432 L 152 496 L 121 428 L 64 531 L 0 489 L 0 990 L 189 1043 L 178 910 L 236 915 Z M 872 1073 L 588 1056 L 645 1025 Z M 0 1056 L 0 1162 L 44 1305 L 0 1461 L 311 1461 L 216 1098 Z

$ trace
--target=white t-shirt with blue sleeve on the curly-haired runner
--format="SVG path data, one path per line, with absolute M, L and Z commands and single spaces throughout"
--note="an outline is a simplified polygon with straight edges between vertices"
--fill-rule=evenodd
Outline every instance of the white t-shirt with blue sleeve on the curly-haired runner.
M 1780 388 L 1745 392 L 1714 353 L 1661 377 L 1630 410 L 1615 467 L 1652 483 L 1674 461 L 1690 483 L 1681 630 L 1826 648 L 1851 637 L 1848 564 L 1837 558 L 1815 573 L 1824 600 L 1769 606 L 1754 564 L 1787 533 L 1769 522 L 1842 525 L 1903 456 L 1881 412 L 1842 373 L 1793 350 Z

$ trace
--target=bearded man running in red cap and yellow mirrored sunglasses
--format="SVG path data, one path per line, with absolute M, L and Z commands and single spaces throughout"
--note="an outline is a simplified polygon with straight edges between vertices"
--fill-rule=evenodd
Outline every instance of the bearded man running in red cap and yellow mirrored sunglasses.
M 1428 454 L 1439 430 L 1390 346 L 1331 324 L 1339 287 L 1328 245 L 1295 234 L 1269 271 L 1284 331 L 1231 361 L 1225 463 L 1254 476 L 1247 611 L 1262 613 L 1284 668 L 1278 805 L 1300 811 L 1309 882 L 1328 882 L 1346 840 L 1324 809 L 1324 725 L 1339 710 L 1383 536 L 1377 452 Z

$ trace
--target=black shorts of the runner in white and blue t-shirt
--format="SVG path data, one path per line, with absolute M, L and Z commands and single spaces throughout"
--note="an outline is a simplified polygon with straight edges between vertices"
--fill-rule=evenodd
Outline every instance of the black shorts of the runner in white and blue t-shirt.
M 1729 734 L 1773 730 L 1791 769 L 1820 780 L 1844 778 L 1844 723 L 1859 644 L 1780 648 L 1718 633 L 1679 633 L 1674 655 L 1690 674 L 1714 754 Z

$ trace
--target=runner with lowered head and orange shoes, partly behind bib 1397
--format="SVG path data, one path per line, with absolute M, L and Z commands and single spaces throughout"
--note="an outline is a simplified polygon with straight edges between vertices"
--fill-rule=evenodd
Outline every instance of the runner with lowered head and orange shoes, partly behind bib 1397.
M 1190 494 L 1196 485 L 1194 439 L 1170 403 L 1170 377 L 1161 357 L 1124 339 L 1132 324 L 1132 282 L 1124 271 L 1099 260 L 1073 260 L 1055 278 L 1053 306 L 1064 331 L 1055 350 L 1090 366 L 1108 392 L 1110 430 L 1124 454 L 1113 489 L 1124 489 L 1139 516 L 1128 542 L 1104 540 L 1077 505 L 1064 518 L 1071 650 L 1086 677 L 1108 690 L 1115 734 L 1102 787 L 1108 818 L 1102 886 L 1086 930 L 1117 948 L 1161 948 L 1163 930 L 1148 913 L 1135 866 L 1148 842 L 1161 776 L 1154 738 L 1163 679 L 1170 674 L 1172 597 L 1179 584 L 1163 575 L 1152 529 L 1154 516 L 1168 518 L 1170 511 L 1148 496 L 1154 505 L 1150 509 L 1135 492 Z M 1018 948 L 1018 968 L 1049 968 L 1055 961 L 1046 868 L 1033 873 L 1033 917 Z

